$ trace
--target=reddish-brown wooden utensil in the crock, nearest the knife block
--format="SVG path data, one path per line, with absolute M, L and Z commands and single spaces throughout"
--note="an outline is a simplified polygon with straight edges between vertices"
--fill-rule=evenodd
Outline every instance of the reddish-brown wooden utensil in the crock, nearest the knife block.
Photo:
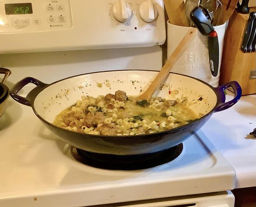
M 230 16 L 233 14 L 236 6 L 237 6 L 238 0 L 221 0 L 223 9 L 222 9 L 222 15 L 220 18 L 220 22 L 218 25 L 222 25 L 230 18 Z

